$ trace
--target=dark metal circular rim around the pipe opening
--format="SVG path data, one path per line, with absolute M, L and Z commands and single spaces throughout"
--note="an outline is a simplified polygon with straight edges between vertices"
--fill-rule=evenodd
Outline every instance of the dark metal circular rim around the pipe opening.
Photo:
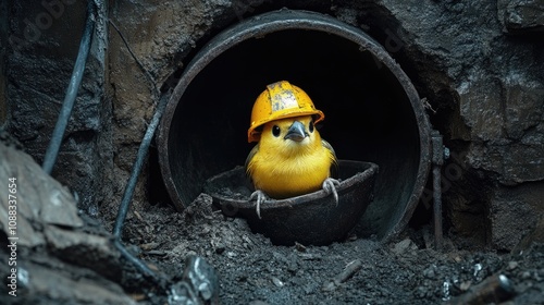
M 426 176 L 429 175 L 431 167 L 430 122 L 423 110 L 423 106 L 420 101 L 416 87 L 409 80 L 408 75 L 406 75 L 406 73 L 387 53 L 387 51 L 372 37 L 362 32 L 362 29 L 348 25 L 332 16 L 310 11 L 282 9 L 243 21 L 213 37 L 187 64 L 187 68 L 182 73 L 182 76 L 180 77 L 180 81 L 175 86 L 170 100 L 168 101 L 158 133 L 159 147 L 168 147 L 169 126 L 171 125 L 172 118 L 177 106 L 180 105 L 178 101 L 181 100 L 186 88 L 200 71 L 202 71 L 211 61 L 221 56 L 224 51 L 240 42 L 256 37 L 263 37 L 271 33 L 288 29 L 307 29 L 334 34 L 357 44 L 362 50 L 368 50 L 398 80 L 411 103 L 411 109 L 413 110 L 413 114 L 418 123 L 420 138 L 420 158 L 417 176 L 424 176 L 424 179 L 416 179 L 413 192 L 411 192 L 411 196 L 405 206 L 401 219 L 382 237 L 382 241 L 387 241 L 398 234 L 408 224 L 408 221 L 410 220 L 425 186 Z M 163 182 L 174 206 L 177 210 L 183 210 L 190 203 L 182 203 L 181 195 L 178 194 L 178 190 L 172 178 L 168 149 L 164 150 L 164 154 L 159 154 L 159 163 Z

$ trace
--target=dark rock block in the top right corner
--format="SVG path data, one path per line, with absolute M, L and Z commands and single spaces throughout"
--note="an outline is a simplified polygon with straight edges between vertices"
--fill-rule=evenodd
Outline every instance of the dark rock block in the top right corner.
M 544 32 L 544 1 L 542 0 L 498 0 L 498 20 L 504 32 L 522 34 Z

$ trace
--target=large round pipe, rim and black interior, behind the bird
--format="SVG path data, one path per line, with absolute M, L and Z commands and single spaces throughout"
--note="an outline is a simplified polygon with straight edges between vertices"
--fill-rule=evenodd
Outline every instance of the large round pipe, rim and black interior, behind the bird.
M 213 37 L 184 70 L 158 134 L 164 184 L 178 210 L 205 181 L 244 164 L 251 107 L 264 86 L 289 81 L 326 118 L 339 159 L 380 167 L 374 200 L 356 227 L 387 240 L 408 223 L 431 166 L 430 123 L 418 93 L 364 32 L 313 12 L 280 10 Z

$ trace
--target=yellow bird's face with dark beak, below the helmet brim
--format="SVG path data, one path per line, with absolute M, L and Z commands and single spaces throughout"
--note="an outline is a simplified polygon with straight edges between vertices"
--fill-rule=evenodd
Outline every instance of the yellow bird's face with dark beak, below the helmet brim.
M 304 152 L 321 143 L 312 115 L 287 118 L 264 124 L 259 145 L 286 154 Z

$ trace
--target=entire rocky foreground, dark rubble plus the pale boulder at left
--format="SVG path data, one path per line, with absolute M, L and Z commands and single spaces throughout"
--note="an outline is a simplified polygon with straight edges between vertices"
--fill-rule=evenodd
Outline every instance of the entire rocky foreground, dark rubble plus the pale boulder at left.
M 112 221 L 55 211 L 75 210 L 74 198 L 58 196 L 50 206 L 47 194 L 58 193 L 60 184 L 4 135 L 0 178 L 18 174 L 22 209 L 16 248 L 10 241 L 0 249 L 5 263 L 0 271 L 7 274 L 0 304 L 191 304 L 175 303 L 183 293 L 172 294 L 173 286 L 186 286 L 187 267 L 200 268 L 186 265 L 191 257 L 213 267 L 199 280 L 218 279 L 219 289 L 208 295 L 217 294 L 220 304 L 543 304 L 544 244 L 531 243 L 542 242 L 542 221 L 514 254 L 469 248 L 466 239 L 453 234 L 436 251 L 426 225 L 407 228 L 388 243 L 350 235 L 329 246 L 276 246 L 252 233 L 246 220 L 225 217 L 206 194 L 183 212 L 161 203 L 129 212 L 123 243 L 157 274 L 156 281 L 112 243 Z M 42 196 L 30 192 L 36 181 Z M 9 209 L 0 203 L 3 217 Z M 109 219 L 116 215 L 106 212 Z M 0 233 L 7 241 L 12 229 L 4 220 Z M 9 265 L 13 260 L 16 266 Z M 17 296 L 9 294 L 13 279 Z

